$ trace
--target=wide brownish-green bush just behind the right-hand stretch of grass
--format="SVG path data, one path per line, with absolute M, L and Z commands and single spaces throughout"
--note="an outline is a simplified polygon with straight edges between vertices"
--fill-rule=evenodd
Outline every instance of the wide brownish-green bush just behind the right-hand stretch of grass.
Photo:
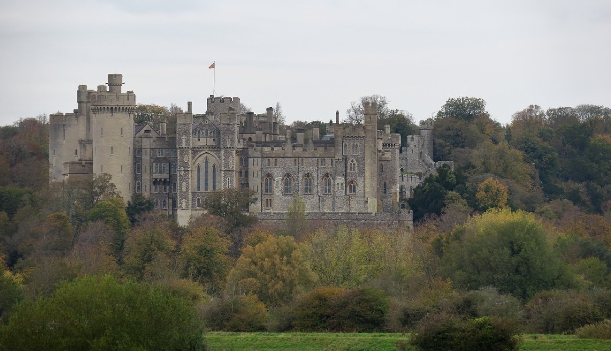
M 525 307 L 529 333 L 573 333 L 582 325 L 604 319 L 598 306 L 575 291 L 544 291 Z

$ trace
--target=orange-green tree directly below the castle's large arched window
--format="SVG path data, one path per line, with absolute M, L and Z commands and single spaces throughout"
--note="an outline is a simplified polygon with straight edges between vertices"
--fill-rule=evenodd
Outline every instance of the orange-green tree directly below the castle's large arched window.
M 231 265 L 229 245 L 219 230 L 208 226 L 192 228 L 180 245 L 182 277 L 207 286 L 211 292 L 219 291 Z

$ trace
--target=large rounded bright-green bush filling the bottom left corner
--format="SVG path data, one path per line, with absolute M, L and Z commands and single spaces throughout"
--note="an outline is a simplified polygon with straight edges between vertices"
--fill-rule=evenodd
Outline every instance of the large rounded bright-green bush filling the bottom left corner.
M 64 283 L 0 325 L 0 350 L 114 349 L 204 350 L 203 326 L 186 300 L 110 275 Z

